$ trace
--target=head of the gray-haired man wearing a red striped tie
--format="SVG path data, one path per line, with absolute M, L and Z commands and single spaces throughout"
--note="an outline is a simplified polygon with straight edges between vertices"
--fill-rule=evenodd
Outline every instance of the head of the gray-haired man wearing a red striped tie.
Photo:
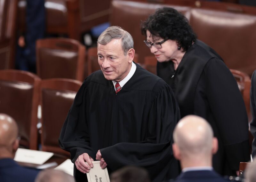
M 98 62 L 107 80 L 124 79 L 132 66 L 133 39 L 118 26 L 110 26 L 98 38 Z

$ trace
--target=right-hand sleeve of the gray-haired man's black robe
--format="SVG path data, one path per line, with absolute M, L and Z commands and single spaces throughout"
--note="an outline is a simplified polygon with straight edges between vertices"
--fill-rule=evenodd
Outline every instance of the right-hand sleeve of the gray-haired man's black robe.
M 158 90 L 159 85 L 161 88 Z M 142 166 L 151 178 L 161 181 L 168 171 L 178 172 L 177 161 L 172 154 L 172 132 L 180 119 L 179 107 L 171 88 L 161 79 L 155 86 L 151 109 L 148 113 L 148 135 L 139 143 L 121 142 L 100 149 L 101 155 L 111 170 L 125 165 Z M 131 134 L 132 135 L 132 134 Z M 170 163 L 176 165 L 170 168 Z M 165 174 L 164 174 L 165 173 Z M 158 175 L 158 177 L 156 177 Z M 174 175 L 175 176 L 175 175 Z

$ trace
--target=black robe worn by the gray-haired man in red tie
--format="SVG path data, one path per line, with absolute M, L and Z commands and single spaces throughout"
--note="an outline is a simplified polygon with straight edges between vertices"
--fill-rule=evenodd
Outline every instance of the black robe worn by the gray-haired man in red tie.
M 136 65 L 132 78 L 117 94 L 101 70 L 92 73 L 77 92 L 60 133 L 60 146 L 76 158 L 100 149 L 108 172 L 125 165 L 145 167 L 153 181 L 178 176 L 172 154 L 172 132 L 180 119 L 172 89 Z M 86 174 L 75 168 L 77 182 Z

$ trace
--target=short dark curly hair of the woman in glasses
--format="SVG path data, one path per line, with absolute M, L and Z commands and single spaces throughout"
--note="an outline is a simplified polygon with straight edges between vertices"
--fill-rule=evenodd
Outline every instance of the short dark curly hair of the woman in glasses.
M 176 40 L 184 51 L 196 41 L 196 34 L 188 24 L 188 19 L 179 11 L 169 7 L 157 9 L 142 22 L 141 33 L 147 36 L 147 30 L 154 36 Z

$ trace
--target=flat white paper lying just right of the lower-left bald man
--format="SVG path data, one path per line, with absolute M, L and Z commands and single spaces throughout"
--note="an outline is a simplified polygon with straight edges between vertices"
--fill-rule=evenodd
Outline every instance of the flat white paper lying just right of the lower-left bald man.
M 52 152 L 44 152 L 30 149 L 18 149 L 16 151 L 14 160 L 17 162 L 44 164 L 49 158 L 53 156 Z

